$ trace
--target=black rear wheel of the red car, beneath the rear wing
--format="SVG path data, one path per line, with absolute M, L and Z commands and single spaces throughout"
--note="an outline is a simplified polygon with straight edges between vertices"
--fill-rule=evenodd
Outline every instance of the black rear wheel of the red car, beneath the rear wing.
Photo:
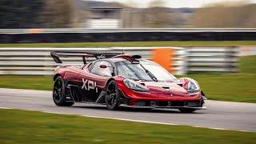
M 59 76 L 54 81 L 53 99 L 57 106 L 72 106 L 74 102 L 66 102 L 65 100 L 65 82 L 64 79 Z

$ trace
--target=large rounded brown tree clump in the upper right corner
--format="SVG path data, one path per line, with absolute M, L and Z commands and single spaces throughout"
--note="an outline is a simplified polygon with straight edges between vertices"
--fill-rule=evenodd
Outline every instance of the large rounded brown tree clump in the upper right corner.
M 192 18 L 194 27 L 255 27 L 256 5 L 215 3 L 198 9 Z

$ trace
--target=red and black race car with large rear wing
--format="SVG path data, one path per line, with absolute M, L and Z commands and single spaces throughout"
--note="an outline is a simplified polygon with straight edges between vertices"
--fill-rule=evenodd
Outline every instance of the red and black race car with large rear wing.
M 175 78 L 156 62 L 139 55 L 52 51 L 52 58 L 82 57 L 82 66 L 58 66 L 54 70 L 53 99 L 57 106 L 74 102 L 118 106 L 174 108 L 191 113 L 206 109 L 205 94 L 192 78 Z M 86 62 L 87 58 L 95 58 Z

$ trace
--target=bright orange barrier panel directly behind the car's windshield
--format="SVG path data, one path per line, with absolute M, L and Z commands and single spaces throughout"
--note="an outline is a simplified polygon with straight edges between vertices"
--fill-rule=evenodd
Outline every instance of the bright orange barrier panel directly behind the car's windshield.
M 174 72 L 174 50 L 170 48 L 156 48 L 152 50 L 152 60 L 158 62 L 170 73 Z

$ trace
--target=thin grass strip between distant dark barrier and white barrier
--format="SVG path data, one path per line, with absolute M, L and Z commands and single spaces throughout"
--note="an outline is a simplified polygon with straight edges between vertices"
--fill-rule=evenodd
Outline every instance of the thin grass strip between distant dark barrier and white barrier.
M 108 47 L 108 46 L 256 46 L 256 41 L 156 41 L 156 42 L 62 42 L 1 43 L 0 47 Z

